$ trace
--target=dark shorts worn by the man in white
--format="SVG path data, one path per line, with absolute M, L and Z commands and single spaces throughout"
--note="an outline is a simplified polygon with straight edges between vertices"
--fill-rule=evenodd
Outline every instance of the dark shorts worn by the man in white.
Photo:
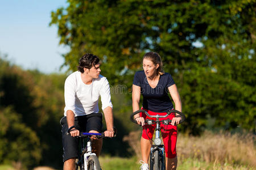
M 67 135 L 68 124 L 67 118 L 63 117 L 60 120 L 62 126 L 62 143 L 63 143 L 63 162 L 71 158 L 77 158 L 79 141 L 78 138 L 71 137 Z M 90 130 L 96 130 L 98 133 L 102 131 L 102 114 L 101 113 L 91 113 L 85 116 L 75 117 L 75 127 L 81 132 L 89 132 Z

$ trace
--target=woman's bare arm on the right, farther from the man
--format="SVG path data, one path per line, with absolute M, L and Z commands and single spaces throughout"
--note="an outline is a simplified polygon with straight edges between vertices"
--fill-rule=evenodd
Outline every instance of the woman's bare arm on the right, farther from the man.
M 171 94 L 172 100 L 174 100 L 175 104 L 175 110 L 182 112 L 182 105 L 181 105 L 181 100 L 180 100 L 180 95 L 179 92 L 177 91 L 177 86 L 176 84 L 173 84 L 172 86 L 168 87 L 168 90 Z M 179 124 L 181 120 L 181 116 L 179 114 L 176 114 L 177 117 L 172 119 L 172 125 Z

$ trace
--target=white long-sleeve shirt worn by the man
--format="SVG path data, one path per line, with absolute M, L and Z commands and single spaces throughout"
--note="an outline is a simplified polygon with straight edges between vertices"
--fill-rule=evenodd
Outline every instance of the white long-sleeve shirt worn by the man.
M 106 107 L 113 108 L 109 82 L 104 76 L 100 75 L 97 79 L 93 79 L 91 84 L 85 84 L 82 82 L 80 71 L 72 73 L 65 80 L 64 116 L 67 116 L 68 110 L 73 111 L 75 116 L 98 113 L 98 100 L 100 96 L 102 111 Z

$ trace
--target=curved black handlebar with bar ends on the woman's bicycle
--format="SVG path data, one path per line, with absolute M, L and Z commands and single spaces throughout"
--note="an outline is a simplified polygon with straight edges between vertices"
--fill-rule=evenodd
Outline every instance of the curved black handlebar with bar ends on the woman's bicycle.
M 153 115 L 148 114 L 147 111 L 141 109 L 141 110 L 138 110 L 138 111 L 136 111 L 136 112 L 133 112 L 133 113 L 131 114 L 131 116 L 130 116 L 131 121 L 134 122 L 135 124 L 137 124 L 137 121 L 134 120 L 133 116 L 134 116 L 135 114 L 140 113 L 140 112 L 145 113 L 148 117 L 154 117 L 154 118 L 164 118 L 164 117 L 169 116 L 171 113 L 177 113 L 177 114 L 180 114 L 180 116 L 181 116 L 180 124 L 185 121 L 185 114 L 183 114 L 183 113 L 181 113 L 181 112 L 179 112 L 179 111 L 177 111 L 177 110 L 169 110 L 169 111 L 167 111 L 167 114 L 166 114 L 166 115 L 159 115 L 159 114 L 156 114 L 155 116 L 153 116 Z

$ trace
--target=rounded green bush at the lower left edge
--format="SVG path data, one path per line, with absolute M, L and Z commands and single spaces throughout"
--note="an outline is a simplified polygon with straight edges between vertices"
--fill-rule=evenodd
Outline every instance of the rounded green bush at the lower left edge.
M 42 148 L 38 135 L 11 107 L 0 110 L 0 162 L 21 162 L 24 167 L 39 163 Z

